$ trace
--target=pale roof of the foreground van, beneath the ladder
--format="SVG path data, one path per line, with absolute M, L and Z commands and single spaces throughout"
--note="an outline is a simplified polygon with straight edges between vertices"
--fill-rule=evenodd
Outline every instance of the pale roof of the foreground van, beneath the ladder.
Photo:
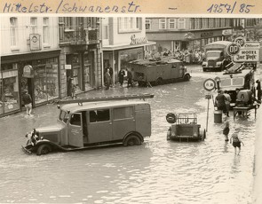
M 70 111 L 71 113 L 81 112 L 89 109 L 109 108 L 112 106 L 132 106 L 139 104 L 148 104 L 147 101 L 143 100 L 115 100 L 115 101 L 99 101 L 99 102 L 86 102 L 83 106 L 74 104 L 67 104 L 62 106 L 61 109 L 64 111 Z

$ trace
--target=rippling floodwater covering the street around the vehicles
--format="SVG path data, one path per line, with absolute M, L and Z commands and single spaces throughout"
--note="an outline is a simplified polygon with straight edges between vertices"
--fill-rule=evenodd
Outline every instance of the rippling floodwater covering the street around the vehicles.
M 153 88 L 93 90 L 87 97 L 153 93 L 152 136 L 139 146 L 111 146 L 71 153 L 36 156 L 23 153 L 24 135 L 34 127 L 56 122 L 54 105 L 0 119 L 1 203 L 250 203 L 255 140 L 255 116 L 230 113 L 230 133 L 240 128 L 244 146 L 239 156 L 224 141 L 223 123 L 214 123 L 213 102 L 204 98 L 202 83 L 212 73 L 191 67 L 190 82 Z M 82 95 L 83 97 L 84 95 Z M 198 114 L 202 142 L 166 140 L 168 113 Z M 224 116 L 223 116 L 224 120 Z

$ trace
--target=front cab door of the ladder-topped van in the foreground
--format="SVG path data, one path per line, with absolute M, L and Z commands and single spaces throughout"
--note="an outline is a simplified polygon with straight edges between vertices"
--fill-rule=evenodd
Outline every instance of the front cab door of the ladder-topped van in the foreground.
M 83 119 L 81 113 L 71 115 L 68 124 L 68 145 L 83 147 Z

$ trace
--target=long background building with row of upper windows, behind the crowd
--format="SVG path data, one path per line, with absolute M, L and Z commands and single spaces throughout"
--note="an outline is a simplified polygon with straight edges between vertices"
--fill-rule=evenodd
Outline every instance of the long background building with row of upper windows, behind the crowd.
M 157 51 L 201 51 L 207 43 L 240 35 L 252 39 L 256 24 L 254 19 L 147 18 L 146 31 Z

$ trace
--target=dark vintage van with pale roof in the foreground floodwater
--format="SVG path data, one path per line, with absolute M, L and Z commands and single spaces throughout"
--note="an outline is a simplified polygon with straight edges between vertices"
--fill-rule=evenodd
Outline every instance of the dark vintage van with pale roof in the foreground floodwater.
M 57 124 L 29 132 L 23 149 L 41 155 L 99 145 L 141 145 L 150 136 L 151 110 L 146 101 L 72 103 L 60 108 Z

